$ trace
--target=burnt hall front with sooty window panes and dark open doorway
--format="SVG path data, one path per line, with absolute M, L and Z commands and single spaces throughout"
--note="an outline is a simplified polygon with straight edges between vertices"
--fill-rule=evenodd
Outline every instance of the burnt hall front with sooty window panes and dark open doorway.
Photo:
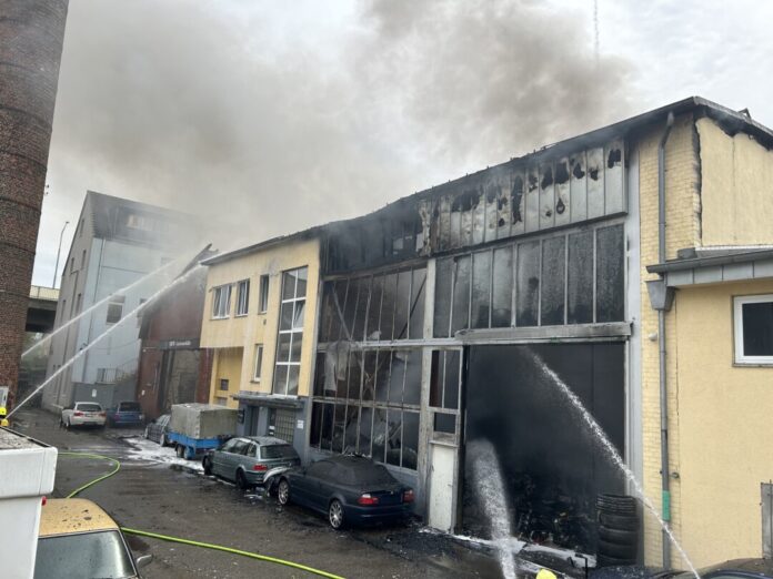
M 573 525 L 596 494 L 625 490 L 532 357 L 624 455 L 626 158 L 623 132 L 608 131 L 325 227 L 311 457 L 372 456 L 418 489 L 431 526 L 485 535 L 468 451 L 485 439 L 508 464 L 516 532 L 592 550 L 592 524 L 561 536 L 525 515 L 552 500 L 524 494 L 530 480 L 578 497 Z

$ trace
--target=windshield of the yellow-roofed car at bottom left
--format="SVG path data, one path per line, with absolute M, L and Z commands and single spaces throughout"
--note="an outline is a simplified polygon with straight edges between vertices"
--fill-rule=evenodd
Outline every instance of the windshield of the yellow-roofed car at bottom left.
M 121 579 L 135 576 L 131 556 L 117 530 L 38 540 L 34 579 Z

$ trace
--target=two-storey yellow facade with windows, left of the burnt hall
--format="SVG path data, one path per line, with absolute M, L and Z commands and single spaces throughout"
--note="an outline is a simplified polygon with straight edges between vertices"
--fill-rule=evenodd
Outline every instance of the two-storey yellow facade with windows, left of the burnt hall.
M 212 257 L 201 347 L 213 352 L 210 403 L 240 408 L 240 434 L 302 448 L 312 379 L 319 242 L 305 235 Z

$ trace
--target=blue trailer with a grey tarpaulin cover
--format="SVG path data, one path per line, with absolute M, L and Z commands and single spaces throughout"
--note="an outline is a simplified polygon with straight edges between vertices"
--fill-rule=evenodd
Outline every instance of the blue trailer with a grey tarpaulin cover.
M 180 458 L 193 459 L 235 436 L 237 414 L 214 404 L 175 404 L 167 439 Z

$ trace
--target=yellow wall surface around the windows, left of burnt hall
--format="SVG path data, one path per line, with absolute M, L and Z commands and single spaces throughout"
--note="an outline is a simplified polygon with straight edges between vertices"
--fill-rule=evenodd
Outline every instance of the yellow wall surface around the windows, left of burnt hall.
M 234 393 L 239 390 L 271 393 L 275 359 L 277 332 L 279 327 L 280 293 L 282 272 L 308 266 L 307 305 L 303 317 L 303 346 L 301 349 L 301 368 L 298 395 L 308 396 L 312 379 L 312 356 L 315 338 L 317 294 L 319 290 L 319 242 L 288 242 L 275 247 L 258 251 L 235 257 L 209 267 L 207 277 L 207 296 L 201 327 L 201 347 L 203 348 L 243 348 L 243 358 Z M 268 274 L 269 306 L 265 313 L 259 309 L 260 276 Z M 237 307 L 237 282 L 250 280 L 250 305 L 247 316 L 234 317 Z M 231 291 L 231 309 L 225 319 L 212 318 L 212 288 L 223 284 L 233 284 Z M 263 364 L 260 380 L 253 376 L 255 344 L 263 345 Z M 212 373 L 213 388 L 217 388 L 217 372 Z

